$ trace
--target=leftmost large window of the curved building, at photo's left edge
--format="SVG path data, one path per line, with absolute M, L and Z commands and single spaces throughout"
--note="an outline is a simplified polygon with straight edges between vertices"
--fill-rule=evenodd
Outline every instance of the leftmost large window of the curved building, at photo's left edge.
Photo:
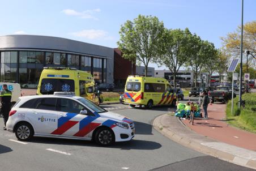
M 17 59 L 18 53 L 1 52 L 1 82 L 3 81 L 17 81 Z

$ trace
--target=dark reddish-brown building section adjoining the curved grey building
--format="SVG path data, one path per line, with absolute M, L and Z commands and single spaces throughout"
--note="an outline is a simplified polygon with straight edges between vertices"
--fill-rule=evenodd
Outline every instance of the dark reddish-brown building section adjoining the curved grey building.
M 128 59 L 122 58 L 122 52 L 114 49 L 114 84 L 117 87 L 125 87 L 128 75 L 136 74 L 136 65 Z

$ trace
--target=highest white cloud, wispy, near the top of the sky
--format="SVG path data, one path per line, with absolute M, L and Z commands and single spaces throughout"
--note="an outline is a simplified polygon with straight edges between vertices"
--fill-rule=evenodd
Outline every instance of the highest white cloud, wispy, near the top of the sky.
M 100 11 L 101 11 L 100 8 L 96 8 L 96 9 L 86 10 L 82 12 L 71 10 L 71 9 L 65 9 L 65 10 L 62 10 L 61 12 L 63 12 L 66 15 L 79 16 L 79 18 L 83 18 L 83 19 L 97 20 L 97 18 L 93 16 L 93 14 L 99 13 Z

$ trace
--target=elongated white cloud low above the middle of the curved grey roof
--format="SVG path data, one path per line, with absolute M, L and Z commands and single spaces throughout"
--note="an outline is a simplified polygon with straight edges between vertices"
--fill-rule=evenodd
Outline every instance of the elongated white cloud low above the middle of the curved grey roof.
M 105 39 L 108 37 L 108 32 L 101 29 L 83 29 L 82 31 L 72 32 L 70 34 L 76 37 L 84 37 L 87 39 Z

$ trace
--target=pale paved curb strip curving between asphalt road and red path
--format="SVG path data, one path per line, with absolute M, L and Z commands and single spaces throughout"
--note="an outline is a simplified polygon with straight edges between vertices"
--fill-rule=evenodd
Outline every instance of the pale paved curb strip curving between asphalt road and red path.
M 173 131 L 171 127 L 164 126 L 162 124 L 164 117 L 168 117 L 167 114 L 156 117 L 153 121 L 153 127 L 174 142 L 233 164 L 256 169 L 256 152 L 226 143 L 217 142 L 216 140 L 199 135 L 187 129 L 187 127 L 184 129 L 189 130 L 191 135 L 193 134 L 193 138 L 189 137 L 188 135 L 185 136 L 186 134 L 182 135 L 179 132 Z

